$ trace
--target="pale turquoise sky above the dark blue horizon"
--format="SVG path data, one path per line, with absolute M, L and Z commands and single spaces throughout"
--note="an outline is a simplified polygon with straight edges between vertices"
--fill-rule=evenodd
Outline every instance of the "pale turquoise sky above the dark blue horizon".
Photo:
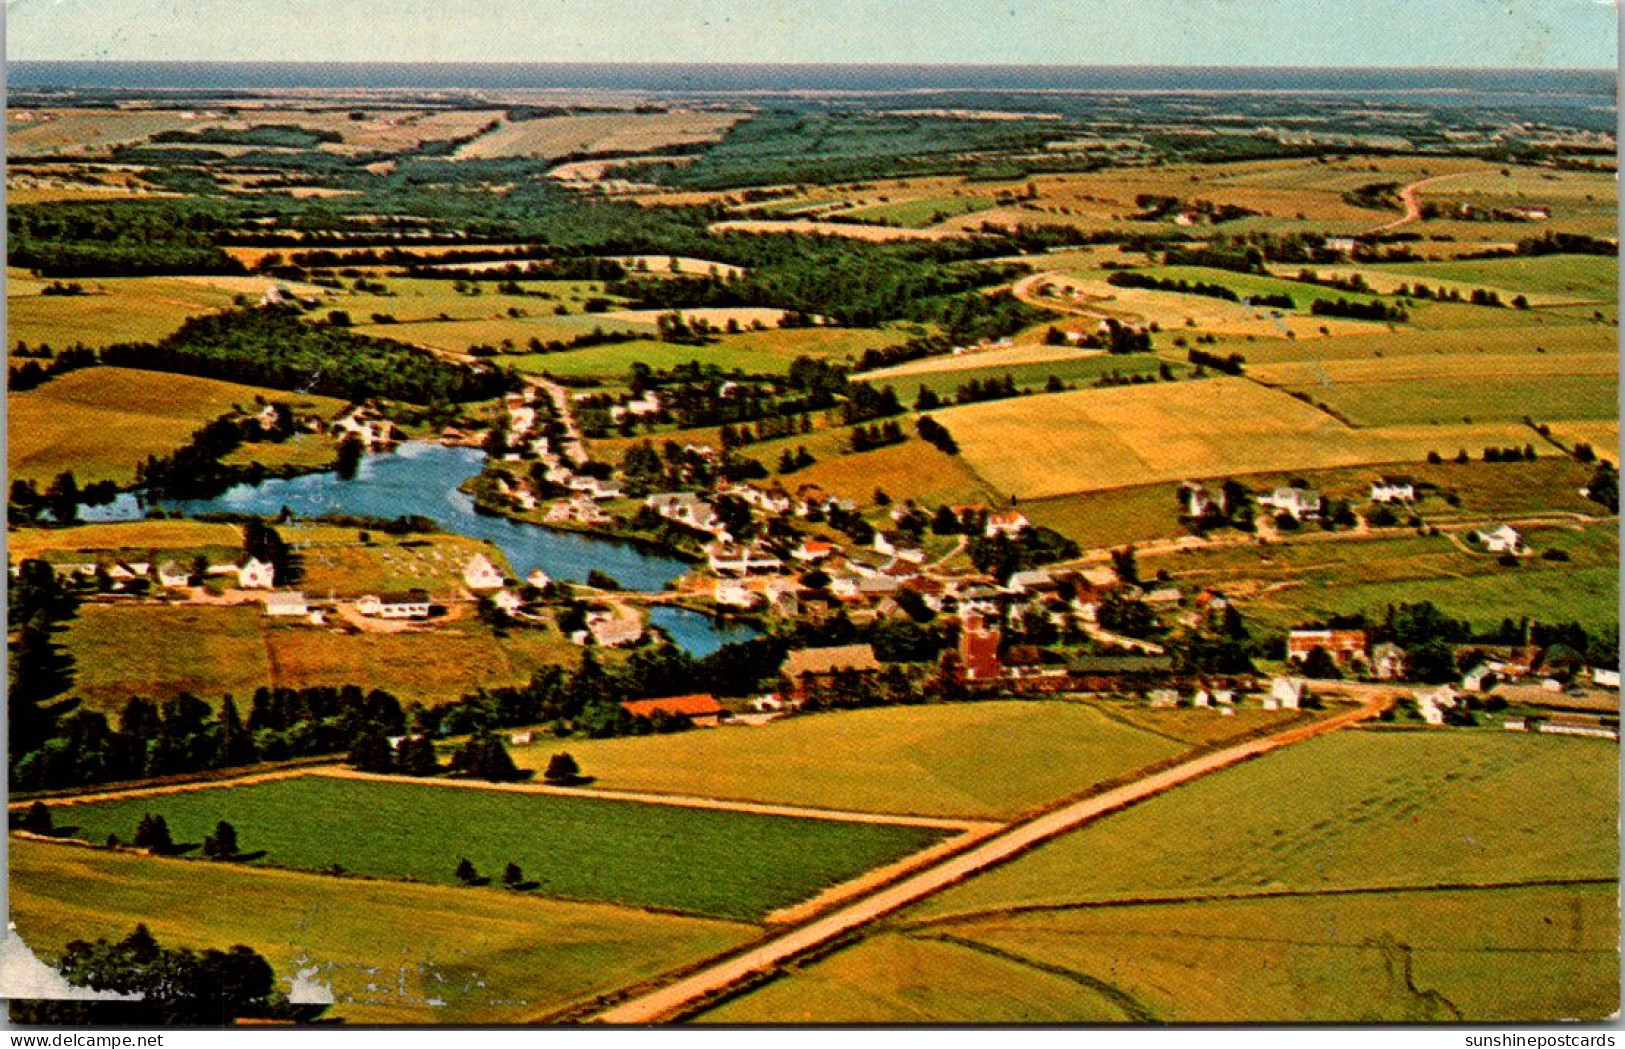
M 6 0 L 6 57 L 1614 68 L 1610 0 Z

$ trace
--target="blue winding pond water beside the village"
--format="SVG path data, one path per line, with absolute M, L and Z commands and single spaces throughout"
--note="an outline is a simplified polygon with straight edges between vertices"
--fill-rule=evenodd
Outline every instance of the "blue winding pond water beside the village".
M 214 499 L 167 500 L 162 508 L 187 516 L 276 516 L 284 507 L 297 516 L 424 516 L 448 533 L 496 544 L 522 578 L 541 568 L 556 580 L 582 583 L 596 568 L 627 589 L 653 593 L 689 570 L 681 560 L 650 554 L 629 542 L 478 513 L 474 499 L 462 492 L 460 486 L 479 473 L 483 460 L 484 453 L 474 448 L 408 442 L 395 451 L 366 456 L 349 481 L 333 471 L 273 477 L 258 484 L 239 484 Z M 141 518 L 145 512 L 135 495 L 124 494 L 104 507 L 81 507 L 80 518 L 130 521 Z M 752 627 L 720 624 L 687 609 L 656 607 L 652 620 L 696 656 L 710 654 L 726 641 L 757 635 Z

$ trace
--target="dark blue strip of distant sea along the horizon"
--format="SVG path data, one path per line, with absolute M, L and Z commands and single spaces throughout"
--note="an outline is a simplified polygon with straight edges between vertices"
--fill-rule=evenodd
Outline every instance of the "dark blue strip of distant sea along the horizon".
M 1614 70 L 1326 70 L 1035 65 L 635 65 L 635 63 L 317 63 L 11 62 L 11 91 L 600 89 L 661 94 L 915 91 L 1306 93 L 1367 99 L 1417 94 L 1467 104 L 1568 99 L 1614 104 Z

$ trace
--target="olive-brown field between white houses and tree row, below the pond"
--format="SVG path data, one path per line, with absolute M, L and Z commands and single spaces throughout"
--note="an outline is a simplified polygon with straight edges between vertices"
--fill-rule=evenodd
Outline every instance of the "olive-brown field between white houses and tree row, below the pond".
M 323 594 L 325 596 L 325 594 Z M 177 645 L 176 638 L 185 638 Z M 436 632 L 335 633 L 271 624 L 258 604 L 86 604 L 58 635 L 73 656 L 70 695 L 119 710 L 132 695 L 190 692 L 242 701 L 262 685 L 361 684 L 401 701 L 445 703 L 476 687 L 518 685 L 541 666 L 574 664 L 580 650 L 556 630 L 457 624 Z

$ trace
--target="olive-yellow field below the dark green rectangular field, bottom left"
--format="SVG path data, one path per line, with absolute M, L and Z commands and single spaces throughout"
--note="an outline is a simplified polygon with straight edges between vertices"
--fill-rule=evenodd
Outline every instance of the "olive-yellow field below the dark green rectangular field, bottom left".
M 748 940 L 754 929 L 533 893 L 359 882 L 13 840 L 10 908 L 42 958 L 73 939 L 245 943 L 332 987 L 349 1023 L 504 1023 Z M 286 991 L 288 984 L 283 984 Z

